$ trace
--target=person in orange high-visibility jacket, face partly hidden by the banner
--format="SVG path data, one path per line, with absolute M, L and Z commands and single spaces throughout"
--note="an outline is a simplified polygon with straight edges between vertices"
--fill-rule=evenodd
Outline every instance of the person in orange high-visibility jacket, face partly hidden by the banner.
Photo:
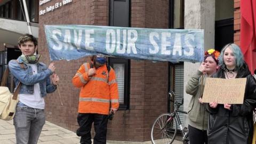
M 73 84 L 81 87 L 77 122 L 77 135 L 81 143 L 92 143 L 91 127 L 94 122 L 93 143 L 106 143 L 108 115 L 118 107 L 118 87 L 115 71 L 107 65 L 103 55 L 93 55 L 73 77 Z

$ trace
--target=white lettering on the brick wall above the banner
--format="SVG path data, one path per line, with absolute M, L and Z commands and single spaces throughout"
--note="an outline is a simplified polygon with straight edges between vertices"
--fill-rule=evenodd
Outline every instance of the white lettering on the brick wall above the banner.
M 43 5 L 43 4 L 45 4 L 47 2 L 50 2 L 50 1 L 51 0 L 39 1 L 39 5 Z M 44 15 L 47 12 L 52 12 L 55 9 L 59 9 L 61 6 L 66 5 L 68 3 L 71 3 L 71 2 L 72 2 L 72 0 L 63 0 L 63 1 L 59 2 L 59 3 L 55 3 L 53 5 L 47 6 L 47 7 L 45 7 L 45 9 L 39 10 L 39 15 Z

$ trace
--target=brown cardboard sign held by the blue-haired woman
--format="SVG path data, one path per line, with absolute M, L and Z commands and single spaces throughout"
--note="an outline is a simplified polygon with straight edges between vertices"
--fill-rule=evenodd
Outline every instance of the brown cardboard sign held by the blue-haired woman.
M 242 104 L 244 102 L 246 78 L 210 78 L 205 81 L 203 102 Z

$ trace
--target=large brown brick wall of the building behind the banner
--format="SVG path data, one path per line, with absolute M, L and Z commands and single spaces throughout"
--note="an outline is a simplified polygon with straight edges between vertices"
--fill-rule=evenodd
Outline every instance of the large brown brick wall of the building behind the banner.
M 53 5 L 60 0 L 42 6 Z M 68 5 L 39 16 L 39 53 L 49 65 L 43 25 L 77 24 L 108 25 L 107 0 L 73 1 Z M 168 28 L 168 1 L 131 1 L 131 27 Z M 79 89 L 71 79 L 85 58 L 72 61 L 55 61 L 60 76 L 59 88 L 64 106 L 60 105 L 58 92 L 46 98 L 46 118 L 69 130 L 76 131 Z M 119 110 L 108 124 L 108 140 L 147 141 L 155 118 L 167 111 L 167 62 L 131 60 L 130 109 Z

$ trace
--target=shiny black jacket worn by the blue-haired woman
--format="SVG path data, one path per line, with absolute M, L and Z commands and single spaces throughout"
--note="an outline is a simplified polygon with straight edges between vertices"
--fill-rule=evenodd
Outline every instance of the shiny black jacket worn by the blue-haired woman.
M 219 69 L 213 75 L 216 78 L 225 78 L 225 70 Z M 244 103 L 231 105 L 231 110 L 218 104 L 217 108 L 209 111 L 208 143 L 209 144 L 251 144 L 253 135 L 253 109 L 256 105 L 256 82 L 247 65 L 237 71 L 236 78 L 246 77 Z

